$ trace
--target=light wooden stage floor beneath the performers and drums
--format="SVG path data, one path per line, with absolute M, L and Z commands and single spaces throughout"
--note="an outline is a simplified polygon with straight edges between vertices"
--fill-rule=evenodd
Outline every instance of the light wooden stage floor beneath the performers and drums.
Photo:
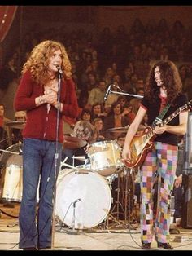
M 20 203 L 1 204 L 0 210 L 0 249 L 20 250 L 18 248 Z M 67 226 L 61 227 L 55 218 L 52 250 L 142 250 L 137 219 L 129 223 L 129 221 L 117 220 L 111 214 L 107 216 L 107 220 L 108 222 L 100 223 L 96 227 L 76 231 Z M 170 243 L 175 250 L 192 250 L 192 229 L 177 227 L 172 232 Z M 154 241 L 151 250 L 162 249 L 157 249 Z

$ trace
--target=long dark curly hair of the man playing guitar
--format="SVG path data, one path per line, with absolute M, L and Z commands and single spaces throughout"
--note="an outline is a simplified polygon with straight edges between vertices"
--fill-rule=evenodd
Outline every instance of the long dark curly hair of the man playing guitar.
M 159 95 L 160 88 L 155 82 L 155 68 L 159 67 L 160 77 L 168 93 L 168 103 L 172 104 L 173 100 L 181 93 L 182 82 L 178 69 L 172 61 L 159 61 L 151 69 L 151 73 L 146 81 L 145 97 L 155 103 Z

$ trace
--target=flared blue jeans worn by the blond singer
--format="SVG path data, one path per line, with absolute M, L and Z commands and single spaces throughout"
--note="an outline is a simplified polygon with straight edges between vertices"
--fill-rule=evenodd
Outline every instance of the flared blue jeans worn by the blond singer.
M 41 139 L 24 139 L 23 142 L 23 195 L 20 205 L 19 248 L 51 247 L 51 223 L 55 178 L 59 172 L 62 144 Z M 55 160 L 57 158 L 57 161 Z M 55 166 L 57 163 L 57 170 Z M 40 178 L 41 177 L 41 178 Z M 36 226 L 37 187 L 39 206 Z

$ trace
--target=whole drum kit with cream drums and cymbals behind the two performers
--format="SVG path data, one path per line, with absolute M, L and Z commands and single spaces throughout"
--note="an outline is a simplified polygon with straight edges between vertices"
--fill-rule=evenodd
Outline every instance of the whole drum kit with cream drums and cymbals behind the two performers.
M 11 121 L 7 124 L 11 128 L 23 129 L 24 122 Z M 126 130 L 127 127 L 122 127 Z M 116 129 L 118 132 L 120 129 Z M 110 132 L 115 132 L 109 130 Z M 85 140 L 72 136 L 65 136 L 63 148 L 85 147 Z M 2 166 L 1 190 L 2 201 L 20 202 L 22 198 L 22 143 L 15 143 L 2 150 L 0 164 Z M 73 229 L 88 229 L 106 224 L 110 219 L 120 224 L 120 209 L 126 222 L 130 199 L 129 175 L 130 170 L 124 169 L 121 161 L 121 149 L 116 140 L 92 143 L 87 147 L 89 162 L 85 157 L 78 158 L 85 162 L 82 166 L 70 166 L 61 161 L 56 183 L 55 215 L 59 220 Z M 120 177 L 125 184 L 121 191 Z M 114 181 L 117 180 L 117 195 L 112 195 Z M 120 195 L 121 192 L 121 195 Z M 125 197 L 124 197 L 124 195 Z M 120 201 L 124 198 L 124 202 Z M 132 197 L 132 196 L 131 196 Z M 38 198 L 38 196 L 37 196 Z M 116 199 L 113 201 L 113 199 Z M 116 210 L 116 212 L 115 212 Z M 130 214 L 130 211 L 129 211 Z M 115 216 L 115 217 L 114 217 Z

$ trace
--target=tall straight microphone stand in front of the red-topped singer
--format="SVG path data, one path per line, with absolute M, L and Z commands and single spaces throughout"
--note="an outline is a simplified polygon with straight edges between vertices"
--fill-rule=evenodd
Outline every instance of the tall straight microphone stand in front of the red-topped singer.
M 58 95 L 57 102 L 60 102 L 60 90 L 61 90 L 61 79 L 62 79 L 62 70 L 58 68 Z M 55 178 L 54 178 L 54 198 L 53 198 L 53 214 L 52 214 L 52 230 L 51 230 L 51 249 L 54 249 L 55 244 L 55 201 L 56 201 L 56 173 L 58 166 L 58 143 L 59 143 L 59 112 L 60 108 L 57 108 L 57 123 L 56 123 L 56 143 L 55 143 Z

